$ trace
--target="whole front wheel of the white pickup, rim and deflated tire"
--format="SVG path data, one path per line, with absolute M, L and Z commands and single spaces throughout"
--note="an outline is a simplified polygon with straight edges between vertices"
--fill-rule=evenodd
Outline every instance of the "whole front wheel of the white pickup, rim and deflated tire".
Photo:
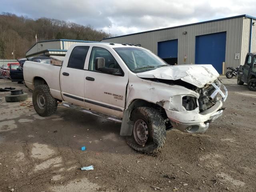
M 161 114 L 154 108 L 138 107 L 131 114 L 133 134 L 127 144 L 143 153 L 159 152 L 166 140 L 166 126 Z

